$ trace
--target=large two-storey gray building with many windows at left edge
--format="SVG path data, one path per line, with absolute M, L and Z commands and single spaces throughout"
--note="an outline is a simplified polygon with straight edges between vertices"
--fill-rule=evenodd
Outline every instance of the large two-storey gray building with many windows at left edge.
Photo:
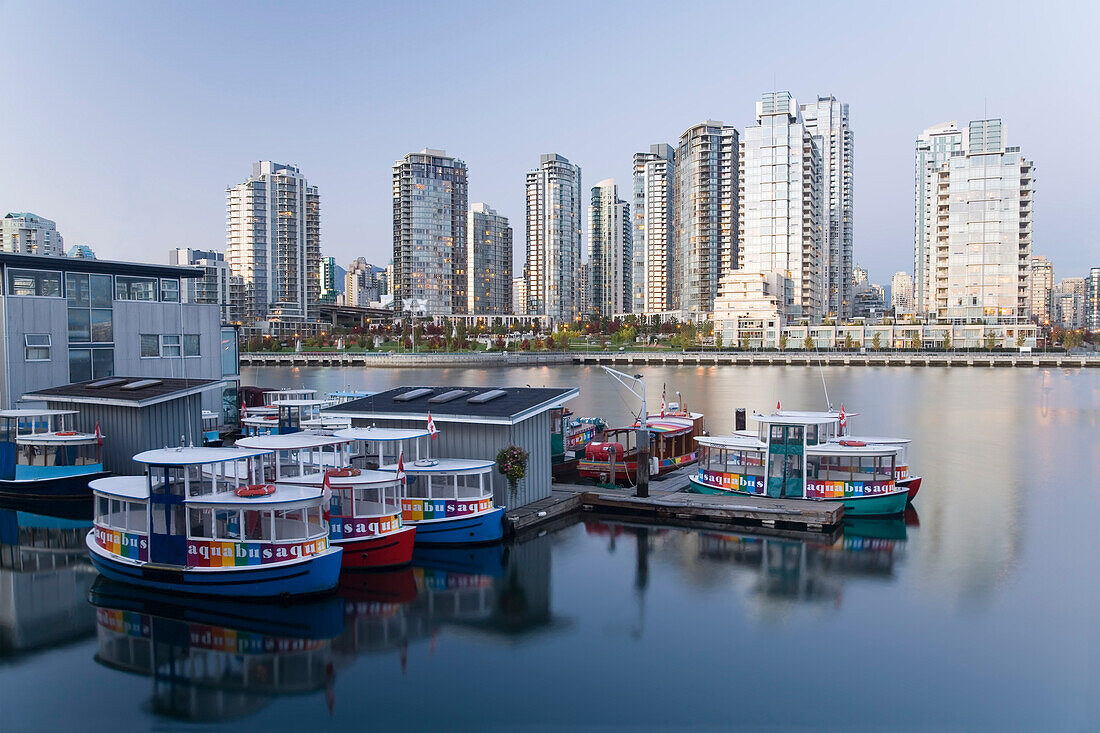
M 207 392 L 202 406 L 229 422 L 238 404 L 237 331 L 222 327 L 217 305 L 179 302 L 180 280 L 202 273 L 0 253 L 0 405 L 114 374 L 224 380 L 226 394 Z

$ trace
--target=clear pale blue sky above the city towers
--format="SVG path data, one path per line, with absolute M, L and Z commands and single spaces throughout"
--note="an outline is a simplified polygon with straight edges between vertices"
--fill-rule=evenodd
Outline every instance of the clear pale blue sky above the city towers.
M 1093 3 L 56 3 L 0 0 L 0 209 L 103 259 L 224 248 L 253 161 L 321 192 L 322 252 L 391 256 L 391 166 L 442 147 L 512 219 L 557 152 L 587 188 L 691 124 L 754 122 L 777 86 L 856 133 L 856 261 L 912 270 L 913 141 L 1001 117 L 1036 163 L 1034 251 L 1100 265 Z M 1056 123 L 1057 122 L 1057 123 Z M 586 226 L 586 225 L 585 225 Z

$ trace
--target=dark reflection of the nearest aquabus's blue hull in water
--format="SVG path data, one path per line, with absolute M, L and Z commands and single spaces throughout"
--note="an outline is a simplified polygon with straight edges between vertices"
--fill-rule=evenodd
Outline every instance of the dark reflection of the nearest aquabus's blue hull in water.
M 336 597 L 295 603 L 211 603 L 161 593 L 100 577 L 88 592 L 92 605 L 161 619 L 293 638 L 332 638 L 343 631 L 343 604 Z

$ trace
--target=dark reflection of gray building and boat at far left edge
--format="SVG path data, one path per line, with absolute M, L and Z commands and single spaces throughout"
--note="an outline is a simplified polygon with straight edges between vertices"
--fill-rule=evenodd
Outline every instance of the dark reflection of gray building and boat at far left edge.
M 0 657 L 88 636 L 90 523 L 0 510 Z

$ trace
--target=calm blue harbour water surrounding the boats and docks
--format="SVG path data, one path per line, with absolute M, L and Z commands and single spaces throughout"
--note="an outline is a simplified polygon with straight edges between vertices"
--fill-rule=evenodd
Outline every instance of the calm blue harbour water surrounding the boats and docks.
M 817 370 L 644 371 L 651 406 L 667 383 L 712 433 L 738 406 L 824 405 Z M 1100 729 L 1100 372 L 825 374 L 858 431 L 914 439 L 916 516 L 816 543 L 581 522 L 289 609 L 172 606 L 91 588 L 79 553 L 7 546 L 0 729 Z M 244 379 L 579 385 L 579 415 L 632 406 L 581 368 Z

